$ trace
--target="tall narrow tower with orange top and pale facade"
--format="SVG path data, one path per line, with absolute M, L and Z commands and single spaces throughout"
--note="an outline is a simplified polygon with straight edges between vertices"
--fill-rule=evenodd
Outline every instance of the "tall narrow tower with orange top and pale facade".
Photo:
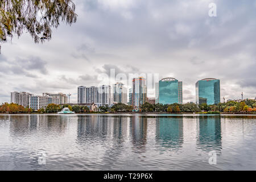
M 131 105 L 134 109 L 141 109 L 141 106 L 147 100 L 146 79 L 143 77 L 133 78 L 133 94 Z

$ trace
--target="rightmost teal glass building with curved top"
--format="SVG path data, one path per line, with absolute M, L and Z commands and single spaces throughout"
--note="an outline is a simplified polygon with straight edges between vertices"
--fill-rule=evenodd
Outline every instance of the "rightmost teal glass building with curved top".
M 220 103 L 220 80 L 205 78 L 196 82 L 196 104 Z

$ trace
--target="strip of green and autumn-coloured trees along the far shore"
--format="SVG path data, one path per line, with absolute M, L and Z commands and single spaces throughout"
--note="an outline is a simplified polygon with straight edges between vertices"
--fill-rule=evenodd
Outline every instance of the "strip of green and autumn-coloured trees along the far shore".
M 92 111 L 87 106 L 81 105 L 56 105 L 49 104 L 45 109 L 32 110 L 31 108 L 23 107 L 18 104 L 2 104 L 0 105 L 1 114 L 50 114 L 57 113 L 64 107 L 69 110 L 75 111 L 77 114 L 134 114 L 134 113 L 147 113 L 147 114 L 256 114 L 256 101 L 245 100 L 244 102 L 229 101 L 219 103 L 216 105 L 201 104 L 196 105 L 193 103 L 188 104 L 150 104 L 144 103 L 141 109 L 134 111 L 133 106 L 118 103 L 109 107 L 108 105 L 98 107 L 98 111 Z

